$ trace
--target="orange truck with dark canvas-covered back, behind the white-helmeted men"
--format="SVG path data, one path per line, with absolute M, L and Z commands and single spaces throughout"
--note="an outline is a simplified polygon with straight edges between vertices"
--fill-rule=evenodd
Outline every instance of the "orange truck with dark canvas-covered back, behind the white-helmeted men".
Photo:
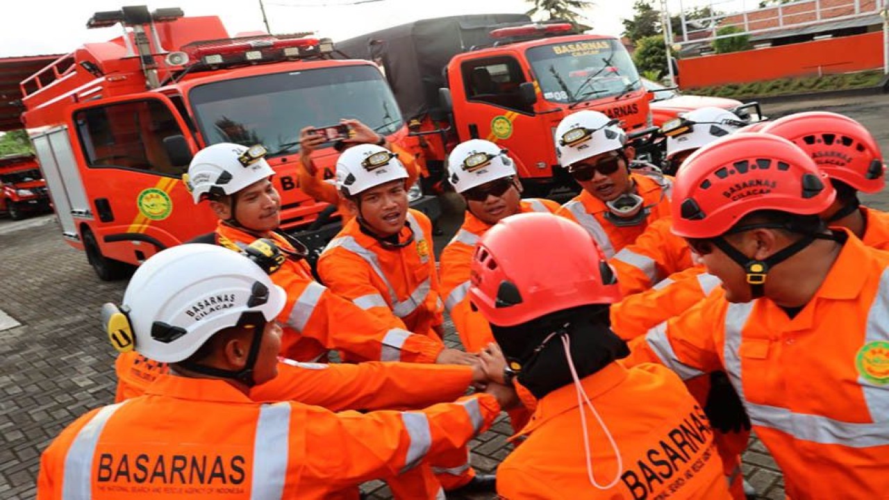
M 349 57 L 384 69 L 429 172 L 440 173 L 458 141 L 482 138 L 509 149 L 532 195 L 570 184 L 552 138 L 581 109 L 621 120 L 629 132 L 652 125 L 647 93 L 621 42 L 581 35 L 525 14 L 418 20 L 338 42 Z M 547 140 L 541 140 L 545 138 Z

